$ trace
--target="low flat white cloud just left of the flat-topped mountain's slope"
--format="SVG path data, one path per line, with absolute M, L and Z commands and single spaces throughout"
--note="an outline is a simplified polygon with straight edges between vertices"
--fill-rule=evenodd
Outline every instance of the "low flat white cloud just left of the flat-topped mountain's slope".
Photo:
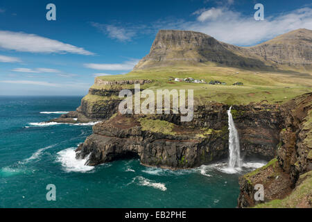
M 87 63 L 85 67 L 90 69 L 97 70 L 131 70 L 135 65 L 137 65 L 139 60 L 130 60 L 123 63 L 113 63 L 113 64 L 96 64 L 96 63 Z

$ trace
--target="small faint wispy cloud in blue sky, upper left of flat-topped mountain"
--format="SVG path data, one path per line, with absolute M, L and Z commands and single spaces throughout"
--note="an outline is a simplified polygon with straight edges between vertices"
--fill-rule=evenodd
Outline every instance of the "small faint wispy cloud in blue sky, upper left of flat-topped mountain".
M 121 26 L 114 26 L 112 24 L 99 24 L 96 22 L 91 23 L 102 33 L 107 34 L 110 38 L 119 40 L 121 42 L 130 41 L 135 36 L 135 31 L 132 28 L 125 29 Z

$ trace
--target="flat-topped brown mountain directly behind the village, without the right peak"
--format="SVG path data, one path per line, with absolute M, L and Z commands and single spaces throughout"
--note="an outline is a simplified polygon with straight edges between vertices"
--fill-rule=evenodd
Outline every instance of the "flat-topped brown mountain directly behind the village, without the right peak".
M 171 65 L 200 65 L 218 62 L 227 66 L 265 67 L 263 61 L 241 53 L 239 47 L 218 42 L 209 35 L 193 31 L 161 30 L 157 33 L 150 53 L 135 69 Z

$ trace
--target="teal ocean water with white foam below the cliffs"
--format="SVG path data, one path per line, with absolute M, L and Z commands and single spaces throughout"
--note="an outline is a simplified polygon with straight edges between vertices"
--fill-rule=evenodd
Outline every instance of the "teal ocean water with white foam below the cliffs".
M 81 97 L 0 96 L 0 207 L 236 207 L 238 178 L 263 162 L 170 171 L 119 160 L 96 167 L 74 150 L 92 124 L 44 124 Z M 56 200 L 46 200 L 46 185 Z

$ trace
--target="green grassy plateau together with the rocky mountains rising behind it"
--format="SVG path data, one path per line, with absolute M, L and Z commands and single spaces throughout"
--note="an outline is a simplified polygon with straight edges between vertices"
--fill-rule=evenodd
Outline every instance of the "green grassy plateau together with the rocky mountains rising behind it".
M 230 105 L 261 101 L 283 103 L 312 91 L 311 42 L 312 31 L 308 29 L 297 29 L 250 47 L 234 46 L 193 31 L 161 30 L 150 53 L 133 71 L 97 78 L 107 81 L 152 80 L 152 83 L 141 85 L 144 89 L 193 89 L 196 104 L 210 101 Z M 219 80 L 226 85 L 169 80 L 188 77 L 203 79 L 207 83 Z M 243 85 L 233 85 L 237 82 Z M 115 91 L 132 87 L 134 85 L 92 86 Z M 101 98 L 88 95 L 86 99 Z M 102 98 L 103 101 L 107 99 Z

